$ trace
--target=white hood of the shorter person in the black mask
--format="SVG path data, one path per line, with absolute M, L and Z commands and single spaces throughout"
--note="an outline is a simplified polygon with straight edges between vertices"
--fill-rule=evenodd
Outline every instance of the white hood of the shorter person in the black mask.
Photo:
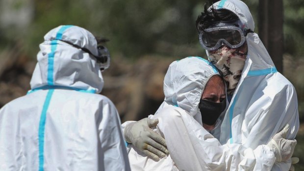
M 213 75 L 220 74 L 209 61 L 200 57 L 171 63 L 164 79 L 165 102 L 186 110 L 193 117 L 196 114 L 201 117 L 198 106 L 205 85 Z

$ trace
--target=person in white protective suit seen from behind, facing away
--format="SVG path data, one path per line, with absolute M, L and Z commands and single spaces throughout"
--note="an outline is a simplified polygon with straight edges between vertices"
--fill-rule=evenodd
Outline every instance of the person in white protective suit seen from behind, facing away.
M 118 112 L 98 94 L 107 49 L 61 25 L 37 60 L 31 90 L 0 110 L 0 171 L 130 171 Z

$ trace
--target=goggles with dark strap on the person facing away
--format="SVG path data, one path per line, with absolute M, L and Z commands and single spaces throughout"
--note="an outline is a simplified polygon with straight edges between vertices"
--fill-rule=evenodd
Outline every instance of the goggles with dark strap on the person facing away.
M 106 70 L 107 68 L 109 68 L 110 66 L 110 53 L 109 50 L 105 47 L 105 46 L 97 46 L 97 50 L 98 50 L 98 56 L 94 55 L 89 49 L 86 48 L 81 48 L 78 45 L 74 45 L 68 41 L 64 41 L 64 40 L 60 40 L 62 42 L 65 42 L 69 45 L 72 45 L 73 47 L 77 48 L 77 49 L 81 49 L 82 51 L 89 53 L 90 55 L 94 56 L 97 60 L 97 63 L 100 65 L 100 69 L 101 71 Z

